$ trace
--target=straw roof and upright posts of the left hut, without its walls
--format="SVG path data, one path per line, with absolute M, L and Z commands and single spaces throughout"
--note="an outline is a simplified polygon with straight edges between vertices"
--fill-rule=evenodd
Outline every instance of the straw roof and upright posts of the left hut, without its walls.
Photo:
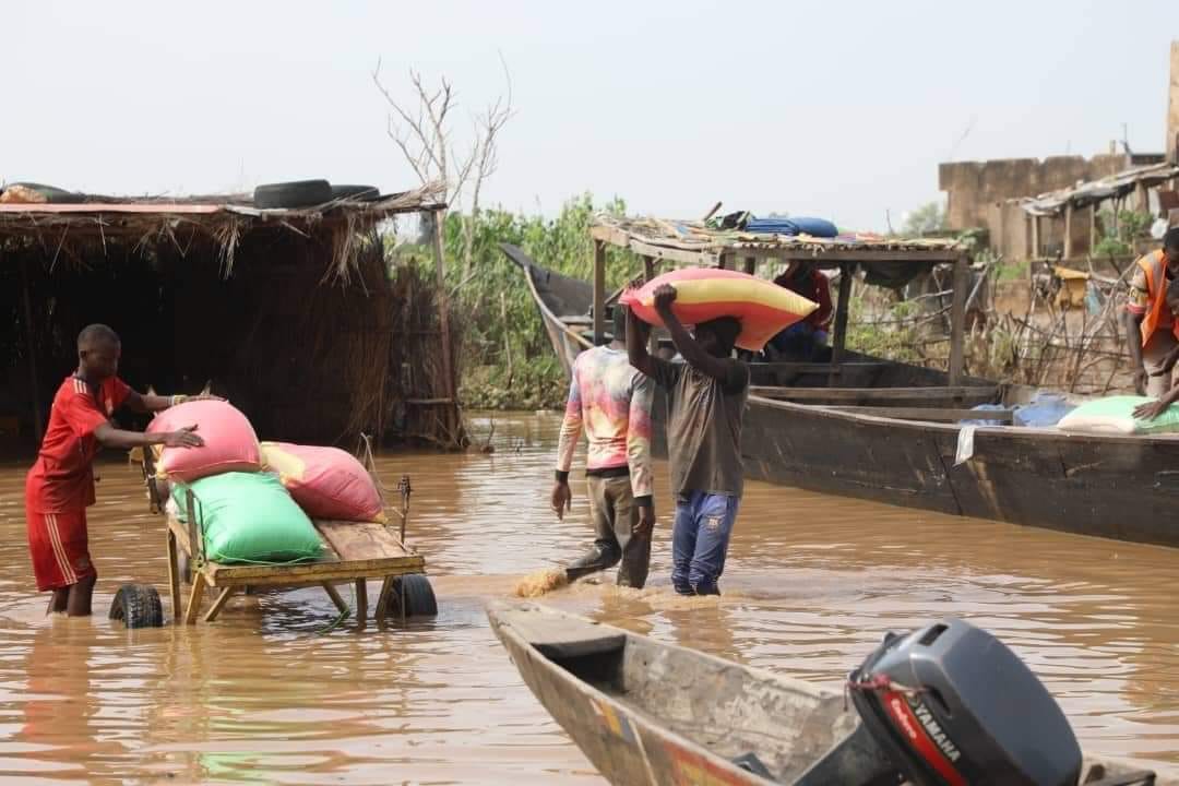
M 440 332 L 441 384 L 428 398 L 406 399 L 407 407 L 437 412 L 442 432 L 457 447 L 462 440 L 457 379 L 452 357 L 446 252 L 442 226 L 447 205 L 440 183 L 413 191 L 361 202 L 338 199 L 315 207 L 257 209 L 249 194 L 215 194 L 186 198 L 85 197 L 78 204 L 0 203 L 0 269 L 6 256 L 17 252 L 20 262 L 22 344 L 28 354 L 33 435 L 39 443 L 45 428 L 45 401 L 35 358 L 34 303 L 31 296 L 28 255 L 44 258 L 52 275 L 59 265 L 86 269 L 95 257 L 107 258 L 116 242 L 138 251 L 165 247 L 178 258 L 197 246 L 212 247 L 222 278 L 233 275 L 236 252 L 255 232 L 324 239 L 325 271 L 321 283 L 364 286 L 358 276 L 361 236 L 395 216 L 419 213 L 432 217 L 429 245 L 434 257 L 436 310 Z M 276 235 L 277 236 L 277 235 Z M 356 280 L 354 280 L 356 279 Z

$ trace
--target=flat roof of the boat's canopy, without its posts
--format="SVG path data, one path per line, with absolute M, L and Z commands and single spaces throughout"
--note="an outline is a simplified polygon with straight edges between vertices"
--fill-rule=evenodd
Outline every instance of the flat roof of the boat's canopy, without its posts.
M 700 264 L 722 256 L 742 258 L 824 256 L 831 259 L 901 258 L 940 262 L 966 252 L 954 239 L 898 238 L 872 233 L 817 238 L 808 235 L 772 235 L 743 230 L 717 230 L 700 220 L 664 220 L 599 214 L 591 230 L 594 239 L 630 247 L 641 256 Z

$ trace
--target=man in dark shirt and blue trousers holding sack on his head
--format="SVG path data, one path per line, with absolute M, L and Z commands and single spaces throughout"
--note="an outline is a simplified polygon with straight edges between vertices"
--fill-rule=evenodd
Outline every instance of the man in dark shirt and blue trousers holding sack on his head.
M 681 595 L 719 595 L 729 536 L 744 490 L 742 420 L 749 398 L 749 366 L 732 357 L 740 323 L 722 317 L 690 333 L 671 310 L 676 289 L 654 291 L 654 306 L 684 363 L 647 352 L 645 331 L 633 315 L 626 325 L 631 365 L 667 391 L 667 453 L 671 493 L 672 584 Z

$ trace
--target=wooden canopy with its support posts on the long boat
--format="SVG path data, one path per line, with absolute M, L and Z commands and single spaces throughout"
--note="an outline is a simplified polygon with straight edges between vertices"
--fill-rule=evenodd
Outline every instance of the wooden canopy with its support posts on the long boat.
M 632 222 L 599 216 L 590 227 L 594 244 L 593 260 L 593 330 L 598 344 L 605 342 L 606 323 L 606 246 L 627 249 L 644 263 L 647 280 L 660 264 L 693 265 L 743 270 L 755 275 L 766 263 L 811 262 L 823 269 L 838 269 L 843 280 L 850 280 L 859 265 L 920 263 L 933 270 L 949 264 L 954 269 L 950 305 L 950 357 L 947 388 L 961 388 L 964 378 L 966 303 L 969 289 L 970 259 L 964 247 L 953 240 L 894 239 L 847 242 L 838 239 L 797 238 L 751 232 L 713 232 L 699 222 L 646 219 Z M 839 286 L 835 310 L 832 382 L 838 378 L 847 355 L 850 286 Z

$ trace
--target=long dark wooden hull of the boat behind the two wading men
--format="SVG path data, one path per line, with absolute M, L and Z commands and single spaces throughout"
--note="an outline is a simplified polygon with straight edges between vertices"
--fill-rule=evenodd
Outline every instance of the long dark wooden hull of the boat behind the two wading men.
M 514 249 L 561 363 L 590 342 L 593 288 Z M 509 255 L 511 256 L 511 255 Z M 554 282 L 552 285 L 547 282 Z M 575 293 L 571 296 L 571 293 Z M 584 309 L 582 311 L 577 311 Z M 579 316 L 580 315 L 580 316 Z M 1179 436 L 1063 434 L 980 427 L 957 460 L 961 420 L 1002 404 L 1012 421 L 1027 388 L 848 352 L 830 363 L 751 363 L 745 414 L 747 477 L 949 515 L 1179 547 Z M 666 402 L 656 396 L 654 454 L 666 457 Z

